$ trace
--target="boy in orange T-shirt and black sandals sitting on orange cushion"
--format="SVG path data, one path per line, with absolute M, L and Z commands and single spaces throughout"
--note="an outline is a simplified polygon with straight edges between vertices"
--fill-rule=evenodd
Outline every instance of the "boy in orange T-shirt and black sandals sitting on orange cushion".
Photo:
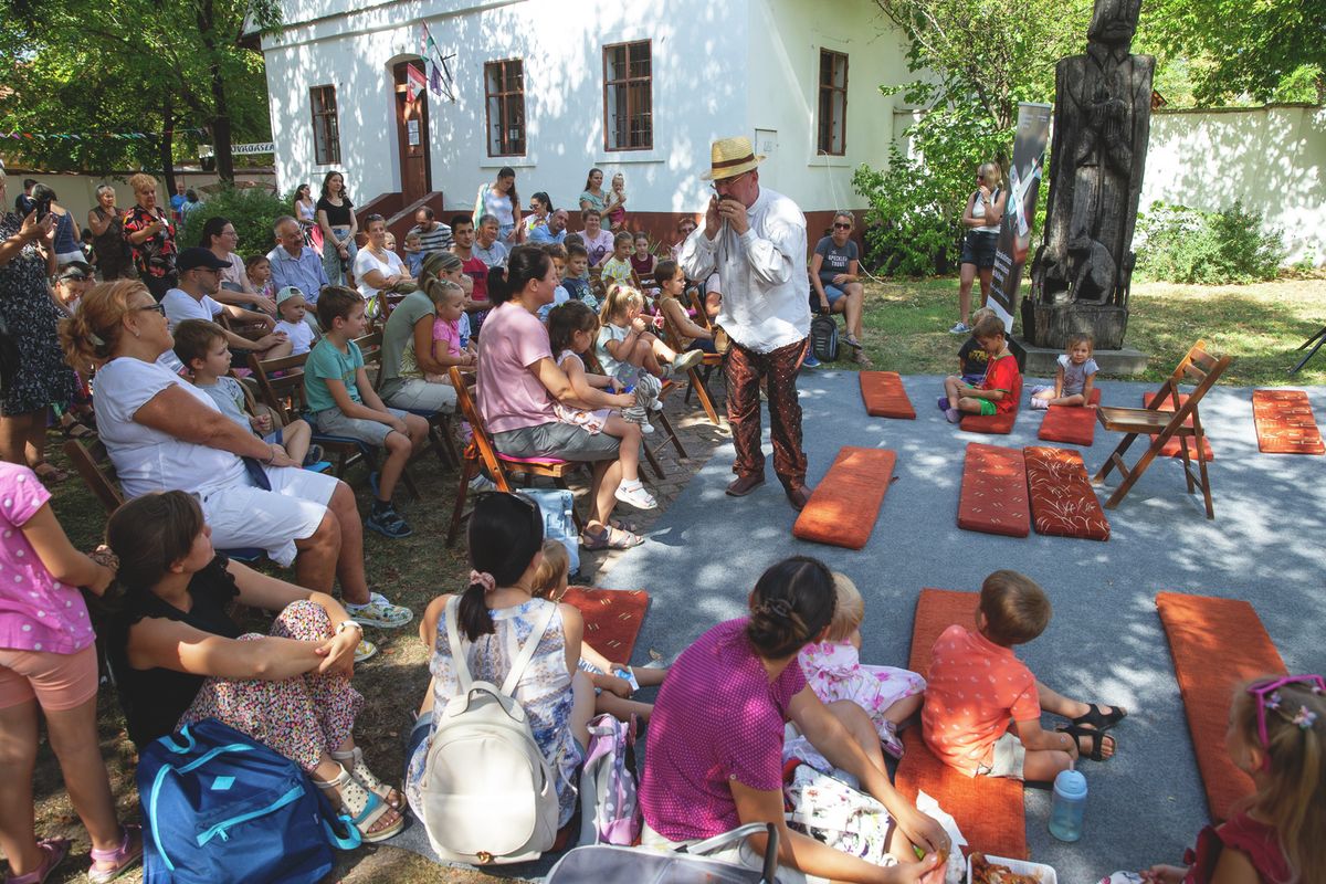
M 1050 600 L 1030 578 L 1017 571 L 985 578 L 976 631 L 951 626 L 935 641 L 922 734 L 936 758 L 968 777 L 1049 782 L 1079 753 L 1093 761 L 1114 754 L 1114 737 L 1105 732 L 1127 712 L 1059 696 L 1013 653 L 1049 622 Z M 1070 724 L 1044 730 L 1042 712 Z

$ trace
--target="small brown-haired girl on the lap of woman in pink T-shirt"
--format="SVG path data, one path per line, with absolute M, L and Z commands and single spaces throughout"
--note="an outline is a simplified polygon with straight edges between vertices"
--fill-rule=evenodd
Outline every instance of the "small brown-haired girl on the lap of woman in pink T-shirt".
M 581 359 L 581 354 L 594 343 L 597 330 L 598 317 L 579 301 L 561 304 L 548 314 L 548 341 L 575 398 L 602 406 L 590 411 L 554 403 L 553 412 L 558 420 L 583 427 L 590 433 L 603 432 L 621 439 L 618 456 L 622 463 L 622 482 L 617 486 L 617 500 L 636 509 L 654 509 L 658 501 L 640 482 L 640 424 L 626 420 L 615 411 L 623 402 L 630 406 L 631 396 L 619 395 L 622 382 L 617 378 L 586 372 Z

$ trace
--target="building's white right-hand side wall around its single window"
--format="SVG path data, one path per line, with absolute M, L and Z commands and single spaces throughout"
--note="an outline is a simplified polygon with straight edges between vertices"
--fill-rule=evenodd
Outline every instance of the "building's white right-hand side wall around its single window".
M 776 144 L 762 150 L 761 179 L 802 211 L 863 207 L 853 171 L 888 164 L 894 113 L 903 106 L 879 86 L 910 78 L 899 33 L 874 3 L 859 0 L 751 0 L 749 33 L 751 130 L 761 146 Z M 843 156 L 815 151 L 821 49 L 847 56 Z

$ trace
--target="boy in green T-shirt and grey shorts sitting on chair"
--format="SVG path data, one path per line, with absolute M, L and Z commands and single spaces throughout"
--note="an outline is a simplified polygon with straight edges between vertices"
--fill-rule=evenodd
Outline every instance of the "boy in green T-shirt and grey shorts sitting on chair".
M 428 436 L 428 421 L 387 408 L 369 383 L 363 354 L 354 339 L 367 329 L 363 298 L 345 286 L 329 286 L 318 296 L 322 339 L 304 363 L 304 402 L 328 436 L 347 436 L 386 451 L 382 472 L 370 476 L 377 497 L 365 526 L 391 538 L 410 537 L 412 529 L 391 504 L 406 464 Z

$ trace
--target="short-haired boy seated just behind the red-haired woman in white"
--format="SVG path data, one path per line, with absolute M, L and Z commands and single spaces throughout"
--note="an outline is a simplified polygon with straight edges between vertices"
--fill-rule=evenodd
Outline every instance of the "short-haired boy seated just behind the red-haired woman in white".
M 194 386 L 206 392 L 221 414 L 248 429 L 263 441 L 282 445 L 297 464 L 316 464 L 322 460 L 322 447 L 310 445 L 313 429 L 302 420 L 292 420 L 285 427 L 272 428 L 272 416 L 255 415 L 248 407 L 243 384 L 229 376 L 231 349 L 225 330 L 210 319 L 184 319 L 175 326 L 175 355 L 190 372 Z

